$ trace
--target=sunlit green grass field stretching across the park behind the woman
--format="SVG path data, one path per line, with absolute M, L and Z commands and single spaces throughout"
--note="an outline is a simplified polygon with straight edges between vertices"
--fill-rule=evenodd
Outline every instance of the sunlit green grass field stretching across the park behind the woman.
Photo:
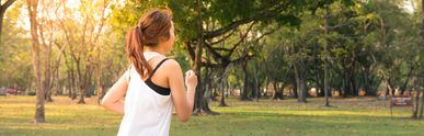
M 34 97 L 0 97 L 0 136 L 114 136 L 122 116 L 87 99 L 79 105 L 65 97 L 46 104 L 44 124 L 33 124 Z M 228 100 L 230 106 L 210 107 L 220 115 L 194 116 L 180 123 L 174 116 L 171 136 L 424 136 L 424 121 L 410 120 L 410 107 L 397 107 L 390 117 L 385 101 L 375 98 L 332 99 L 331 107 L 323 99 L 240 102 Z

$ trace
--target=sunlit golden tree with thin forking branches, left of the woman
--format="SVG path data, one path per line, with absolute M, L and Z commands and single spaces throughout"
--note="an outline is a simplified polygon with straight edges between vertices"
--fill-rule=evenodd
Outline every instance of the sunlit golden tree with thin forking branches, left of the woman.
M 80 1 L 81 7 L 69 8 L 66 4 L 61 4 L 60 11 L 55 15 L 59 22 L 60 30 L 64 32 L 62 39 L 68 52 L 61 52 L 64 56 L 68 56 L 67 61 L 68 70 L 70 70 L 70 77 L 72 84 L 76 82 L 79 90 L 79 104 L 84 104 L 85 95 L 92 83 L 92 77 L 94 69 L 100 69 L 102 63 L 99 59 L 99 38 L 103 33 L 104 24 L 107 21 L 106 8 L 108 2 L 104 1 Z M 100 10 L 98 10 L 98 8 Z M 72 12 L 84 14 L 81 20 L 67 16 L 64 13 L 71 14 Z M 77 21 L 78 20 L 78 21 Z M 82 26 L 82 27 L 79 27 Z M 60 45 L 62 46 L 62 45 Z M 98 76 L 101 72 L 96 72 Z M 75 78 L 75 79 L 73 79 Z M 101 77 L 96 77 L 98 83 L 101 83 Z M 99 88 L 101 86 L 98 86 Z M 101 92 L 102 90 L 99 89 Z

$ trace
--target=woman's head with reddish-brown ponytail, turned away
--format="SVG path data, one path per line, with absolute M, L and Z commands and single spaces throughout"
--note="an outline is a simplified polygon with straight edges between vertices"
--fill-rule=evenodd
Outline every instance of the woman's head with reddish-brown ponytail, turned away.
M 126 54 L 141 76 L 150 75 L 151 68 L 144 56 L 145 48 L 170 52 L 175 36 L 172 12 L 168 9 L 151 10 L 142 14 L 138 24 L 126 37 Z

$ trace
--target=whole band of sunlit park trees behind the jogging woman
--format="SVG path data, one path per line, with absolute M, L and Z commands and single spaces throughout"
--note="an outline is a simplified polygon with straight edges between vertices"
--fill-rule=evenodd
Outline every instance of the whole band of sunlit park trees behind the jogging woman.
M 208 102 L 225 106 L 227 97 L 308 102 L 423 89 L 419 0 L 39 0 L 34 25 L 33 0 L 9 1 L 0 1 L 0 88 L 34 94 L 38 80 L 47 101 L 101 99 L 128 66 L 126 31 L 151 8 L 173 11 L 168 56 L 199 75 L 198 114 L 216 114 Z

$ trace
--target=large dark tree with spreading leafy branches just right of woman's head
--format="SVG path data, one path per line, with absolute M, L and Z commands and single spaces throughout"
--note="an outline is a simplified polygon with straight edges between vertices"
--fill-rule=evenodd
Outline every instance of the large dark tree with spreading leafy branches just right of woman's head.
M 346 0 L 348 1 L 348 0 Z M 318 7 L 329 4 L 332 1 L 316 1 L 316 0 L 296 0 L 296 1 L 239 1 L 239 0 L 203 0 L 203 1 L 127 1 L 123 7 L 115 7 L 114 18 L 121 22 L 119 24 L 135 24 L 141 12 L 151 7 L 169 5 L 175 16 L 191 18 L 174 18 L 174 24 L 180 32 L 180 39 L 185 45 L 192 66 L 196 67 L 197 75 L 203 77 L 205 72 L 200 72 L 204 67 L 226 67 L 229 64 L 242 63 L 252 58 L 249 54 L 236 54 L 237 48 L 243 50 L 242 42 L 247 36 L 234 38 L 233 44 L 226 43 L 224 48 L 216 47 L 219 43 L 237 37 L 234 32 L 240 27 L 251 27 L 250 25 L 267 25 L 271 22 L 276 22 L 278 25 L 297 25 L 299 24 L 299 14 L 303 10 L 316 10 Z M 234 7 L 243 5 L 243 7 Z M 123 16 L 122 14 L 126 14 Z M 202 18 L 199 18 L 202 15 Z M 128 16 L 130 16 L 128 19 Z M 124 22 L 124 23 L 123 23 Z M 202 23 L 202 25 L 198 25 Z M 196 27 L 193 27 L 196 24 Z M 214 25 L 214 29 L 205 29 L 204 26 Z M 128 25 L 122 25 L 128 26 Z M 247 31 L 245 34 L 249 34 Z M 200 41 L 202 39 L 202 41 Z M 239 42 L 238 42 L 239 41 Z M 214 64 L 203 61 L 203 50 L 208 50 L 211 54 Z M 248 52 L 249 53 L 249 52 Z M 199 64 L 199 60 L 200 64 Z M 299 72 L 300 73 L 300 72 Z M 302 76 L 306 78 L 306 76 Z M 303 79 L 305 79 L 303 78 Z M 199 78 L 202 79 L 202 78 Z M 202 81 L 200 81 L 202 82 Z M 306 83 L 306 82 L 305 82 Z M 303 84 L 305 84 L 303 83 Z M 211 113 L 208 107 L 207 98 L 203 95 L 205 89 L 199 83 L 197 88 L 197 97 L 195 111 L 204 111 Z M 202 104 L 200 104 L 202 103 Z

